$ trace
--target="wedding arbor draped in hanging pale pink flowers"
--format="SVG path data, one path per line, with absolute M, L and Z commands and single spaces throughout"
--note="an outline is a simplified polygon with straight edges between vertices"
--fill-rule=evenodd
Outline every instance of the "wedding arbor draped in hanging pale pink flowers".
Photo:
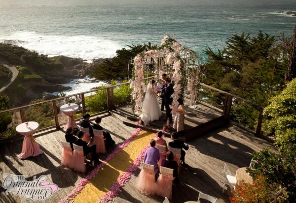
M 154 74 L 154 80 L 160 81 L 166 73 L 174 83 L 173 103 L 189 94 L 190 104 L 195 104 L 197 87 L 204 74 L 199 56 L 185 48 L 175 38 L 165 35 L 161 45 L 134 58 L 133 79 L 131 81 L 134 112 L 142 111 L 143 94 L 146 91 L 145 75 Z

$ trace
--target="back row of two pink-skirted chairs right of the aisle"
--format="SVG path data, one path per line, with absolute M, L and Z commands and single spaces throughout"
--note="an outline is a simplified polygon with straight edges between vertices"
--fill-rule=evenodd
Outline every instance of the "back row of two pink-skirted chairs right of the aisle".
M 155 183 L 154 166 L 142 162 L 142 170 L 138 176 L 137 188 L 145 195 L 159 195 L 172 198 L 173 169 L 160 166 L 160 175 Z

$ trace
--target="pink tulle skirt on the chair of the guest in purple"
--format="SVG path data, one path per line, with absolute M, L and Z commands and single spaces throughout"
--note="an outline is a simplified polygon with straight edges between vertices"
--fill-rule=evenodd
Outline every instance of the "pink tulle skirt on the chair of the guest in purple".
M 142 170 L 138 176 L 137 188 L 145 195 L 155 194 L 155 174 L 153 171 Z

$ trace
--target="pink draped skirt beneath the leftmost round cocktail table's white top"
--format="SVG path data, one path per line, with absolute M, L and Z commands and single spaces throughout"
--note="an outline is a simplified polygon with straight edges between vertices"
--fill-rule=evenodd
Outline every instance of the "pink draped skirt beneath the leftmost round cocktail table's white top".
M 20 159 L 26 159 L 30 156 L 38 156 L 42 153 L 43 151 L 40 149 L 38 143 L 33 138 L 33 134 L 31 134 L 25 135 L 22 152 L 19 155 L 17 155 L 17 157 Z

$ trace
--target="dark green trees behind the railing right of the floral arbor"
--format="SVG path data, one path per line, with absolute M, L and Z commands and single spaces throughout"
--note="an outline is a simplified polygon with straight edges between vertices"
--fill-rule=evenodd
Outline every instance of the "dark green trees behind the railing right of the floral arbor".
M 276 38 L 261 31 L 255 36 L 243 32 L 229 37 L 222 50 L 204 50 L 209 56 L 205 64 L 207 85 L 259 104 L 250 106 L 235 100 L 231 119 L 255 129 L 259 107 L 266 106 L 283 89 L 291 39 L 284 34 Z

